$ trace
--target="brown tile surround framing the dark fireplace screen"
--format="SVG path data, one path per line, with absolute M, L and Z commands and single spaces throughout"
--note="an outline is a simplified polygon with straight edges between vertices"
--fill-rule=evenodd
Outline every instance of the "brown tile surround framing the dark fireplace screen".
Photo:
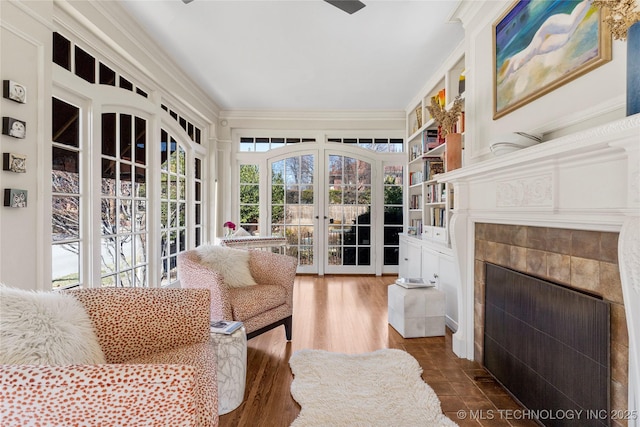
M 474 246 L 475 360 L 485 360 L 487 263 L 586 292 L 606 302 L 610 311 L 608 405 L 614 411 L 628 410 L 629 340 L 618 273 L 618 233 L 476 223 Z

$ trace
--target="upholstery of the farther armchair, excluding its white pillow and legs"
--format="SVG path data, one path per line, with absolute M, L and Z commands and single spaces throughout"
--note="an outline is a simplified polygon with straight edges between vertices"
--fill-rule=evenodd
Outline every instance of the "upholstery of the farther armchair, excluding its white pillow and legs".
M 224 277 L 200 263 L 196 251 L 178 255 L 178 279 L 183 288 L 211 291 L 211 318 L 238 320 L 247 333 L 257 331 L 293 313 L 293 283 L 297 260 L 287 255 L 249 250 L 249 270 L 256 286 L 229 288 Z

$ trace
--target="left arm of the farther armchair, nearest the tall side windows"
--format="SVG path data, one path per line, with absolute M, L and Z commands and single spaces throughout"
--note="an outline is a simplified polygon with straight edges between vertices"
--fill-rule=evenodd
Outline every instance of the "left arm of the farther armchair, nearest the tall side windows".
M 178 280 L 183 288 L 209 290 L 211 319 L 233 319 L 229 286 L 224 283 L 222 275 L 200 263 L 200 256 L 195 250 L 178 254 Z

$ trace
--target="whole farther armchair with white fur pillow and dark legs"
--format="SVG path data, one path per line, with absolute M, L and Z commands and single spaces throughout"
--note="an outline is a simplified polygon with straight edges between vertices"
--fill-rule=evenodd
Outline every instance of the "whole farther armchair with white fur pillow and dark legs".
M 233 268 L 216 268 L 222 257 Z M 249 339 L 284 325 L 286 338 L 291 340 L 297 266 L 297 260 L 288 255 L 200 246 L 178 255 L 178 279 L 183 288 L 211 291 L 211 319 L 243 322 Z M 245 270 L 249 277 L 243 274 Z

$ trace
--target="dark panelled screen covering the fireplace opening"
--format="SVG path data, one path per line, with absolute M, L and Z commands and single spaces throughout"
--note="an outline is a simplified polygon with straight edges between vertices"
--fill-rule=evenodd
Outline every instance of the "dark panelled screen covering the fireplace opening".
M 486 369 L 533 412 L 571 414 L 545 426 L 609 426 L 609 303 L 495 264 L 485 271 Z

